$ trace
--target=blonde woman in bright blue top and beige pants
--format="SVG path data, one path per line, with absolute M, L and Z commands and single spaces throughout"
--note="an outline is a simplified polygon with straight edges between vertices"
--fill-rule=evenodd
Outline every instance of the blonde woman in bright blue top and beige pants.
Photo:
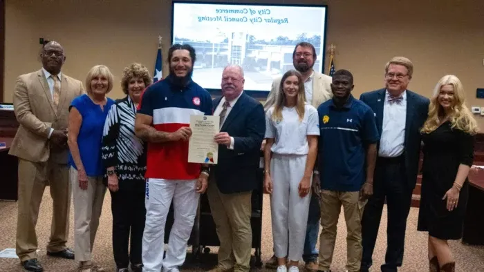
M 103 271 L 91 261 L 93 243 L 106 186 L 101 159 L 104 120 L 113 99 L 106 94 L 113 88 L 113 75 L 106 66 L 94 66 L 86 77 L 86 95 L 73 100 L 69 107 L 68 146 L 71 150 L 69 178 L 74 200 L 74 251 L 82 272 Z

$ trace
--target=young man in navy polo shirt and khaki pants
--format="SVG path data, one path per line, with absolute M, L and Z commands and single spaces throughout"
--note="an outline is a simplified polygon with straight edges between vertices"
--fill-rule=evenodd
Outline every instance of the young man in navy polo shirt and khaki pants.
M 360 271 L 361 217 L 373 194 L 378 130 L 369 106 L 351 95 L 353 75 L 338 70 L 333 75 L 333 99 L 317 108 L 319 115 L 318 171 L 321 177 L 319 271 L 330 271 L 336 226 L 343 205 L 347 241 L 346 270 Z

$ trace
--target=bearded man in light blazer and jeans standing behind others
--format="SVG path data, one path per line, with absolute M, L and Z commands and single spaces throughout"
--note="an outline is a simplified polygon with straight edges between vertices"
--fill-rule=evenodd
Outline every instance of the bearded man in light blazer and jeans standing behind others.
M 292 63 L 294 64 L 294 68 L 301 72 L 303 76 L 306 102 L 317 108 L 323 102 L 331 99 L 333 93 L 331 92 L 331 77 L 313 70 L 315 61 L 315 47 L 308 42 L 297 43 L 294 52 L 292 52 Z M 267 97 L 266 104 L 264 104 L 264 110 L 266 111 L 275 104 L 277 97 L 281 95 L 279 90 L 281 78 L 282 77 L 278 77 L 272 82 L 272 88 Z M 308 271 L 317 271 L 318 267 L 316 243 L 319 233 L 320 212 L 319 173 L 315 171 L 313 175 L 313 193 L 309 204 L 308 226 L 306 228 L 306 241 L 304 242 L 303 253 L 303 259 L 304 262 L 306 262 L 306 269 L 308 269 Z M 277 268 L 277 259 L 275 256 L 272 256 L 270 262 L 268 262 L 266 266 L 272 269 Z

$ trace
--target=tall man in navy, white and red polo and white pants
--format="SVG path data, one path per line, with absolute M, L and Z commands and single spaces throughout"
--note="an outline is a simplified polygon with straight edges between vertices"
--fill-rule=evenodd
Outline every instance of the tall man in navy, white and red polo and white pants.
M 145 272 L 178 272 L 185 262 L 200 194 L 208 170 L 188 162 L 191 115 L 212 115 L 212 97 L 192 80 L 195 49 L 175 44 L 168 50 L 169 75 L 142 95 L 136 114 L 136 136 L 148 143 L 146 224 L 142 242 Z M 165 223 L 171 202 L 175 222 L 163 259 Z

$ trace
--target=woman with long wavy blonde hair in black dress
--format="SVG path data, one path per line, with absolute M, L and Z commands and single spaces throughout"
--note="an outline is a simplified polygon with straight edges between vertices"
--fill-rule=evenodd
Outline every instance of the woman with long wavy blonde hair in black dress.
M 454 271 L 447 240 L 462 237 L 478 126 L 454 75 L 438 81 L 422 128 L 424 162 L 418 231 L 429 232 L 430 271 Z

